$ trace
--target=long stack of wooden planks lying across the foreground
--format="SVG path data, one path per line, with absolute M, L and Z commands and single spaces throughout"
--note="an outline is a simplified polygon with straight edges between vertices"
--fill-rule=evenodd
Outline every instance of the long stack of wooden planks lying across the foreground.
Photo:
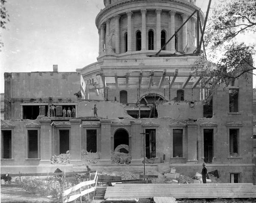
M 116 184 L 108 186 L 106 198 L 256 198 L 253 183 L 209 184 Z

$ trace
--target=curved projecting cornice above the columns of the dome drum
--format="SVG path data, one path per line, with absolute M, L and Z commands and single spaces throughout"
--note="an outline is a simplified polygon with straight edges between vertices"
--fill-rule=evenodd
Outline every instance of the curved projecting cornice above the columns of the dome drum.
M 139 2 L 139 1 L 145 1 L 145 0 L 122 0 L 122 1 L 119 1 L 119 2 L 116 2 L 116 3 L 113 3 L 107 7 L 105 7 L 104 9 L 102 9 L 99 14 L 96 16 L 96 19 L 95 19 L 95 24 L 98 28 L 98 25 L 99 25 L 99 20 L 100 18 L 109 10 L 113 9 L 113 8 L 116 8 L 118 6 L 121 6 L 123 4 L 127 4 L 127 3 L 131 3 L 131 2 Z M 189 3 L 188 1 L 185 1 L 185 0 L 169 0 L 169 2 L 175 2 L 175 3 L 180 3 L 180 4 L 184 4 L 186 6 L 189 6 L 191 7 L 192 9 L 198 9 L 199 8 L 197 6 L 195 6 L 194 4 L 192 3 Z M 200 11 L 200 14 L 201 14 L 201 17 L 204 17 L 204 14 L 202 13 L 202 11 Z

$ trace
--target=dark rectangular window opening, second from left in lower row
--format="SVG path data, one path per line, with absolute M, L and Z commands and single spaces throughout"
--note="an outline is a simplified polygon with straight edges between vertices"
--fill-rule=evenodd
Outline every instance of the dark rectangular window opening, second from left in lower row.
M 28 158 L 38 158 L 38 131 L 28 130 Z

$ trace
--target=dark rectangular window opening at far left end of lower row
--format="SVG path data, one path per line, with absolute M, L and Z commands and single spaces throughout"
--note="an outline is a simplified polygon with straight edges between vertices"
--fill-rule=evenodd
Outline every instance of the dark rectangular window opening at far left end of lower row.
M 12 131 L 11 130 L 2 130 L 1 154 L 2 154 L 2 157 L 1 157 L 2 159 L 12 158 Z

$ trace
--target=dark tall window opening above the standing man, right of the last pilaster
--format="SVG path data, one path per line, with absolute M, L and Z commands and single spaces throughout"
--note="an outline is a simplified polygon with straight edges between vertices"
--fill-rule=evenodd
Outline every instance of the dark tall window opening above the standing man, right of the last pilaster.
M 204 162 L 212 163 L 213 129 L 204 129 Z

